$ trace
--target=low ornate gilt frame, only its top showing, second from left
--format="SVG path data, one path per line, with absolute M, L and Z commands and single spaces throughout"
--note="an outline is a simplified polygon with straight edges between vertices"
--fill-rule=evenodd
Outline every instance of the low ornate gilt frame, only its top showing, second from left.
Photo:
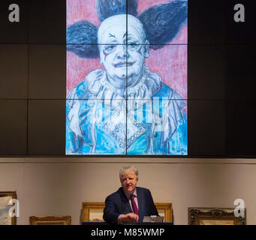
M 71 225 L 71 216 L 30 216 L 30 225 Z

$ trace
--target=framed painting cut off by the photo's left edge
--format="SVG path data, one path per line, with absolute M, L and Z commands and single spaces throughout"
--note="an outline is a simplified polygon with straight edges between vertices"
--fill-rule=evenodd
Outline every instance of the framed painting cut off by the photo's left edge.
M 11 199 L 17 199 L 16 191 L 0 192 L 0 225 L 17 224 L 17 217 L 12 216 L 12 213 L 14 214 L 14 210 L 12 211 L 14 203 L 10 202 Z

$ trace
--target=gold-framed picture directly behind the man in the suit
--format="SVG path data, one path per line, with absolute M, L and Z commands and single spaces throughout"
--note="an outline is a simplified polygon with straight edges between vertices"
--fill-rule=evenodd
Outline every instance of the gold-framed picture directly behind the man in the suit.
M 105 202 L 82 202 L 82 222 L 103 222 Z M 164 222 L 172 222 L 173 207 L 170 202 L 155 202 L 155 207 L 164 217 Z

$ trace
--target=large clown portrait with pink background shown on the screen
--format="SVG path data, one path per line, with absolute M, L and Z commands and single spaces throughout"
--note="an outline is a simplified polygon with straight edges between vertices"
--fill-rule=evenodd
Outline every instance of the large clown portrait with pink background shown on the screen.
M 66 154 L 188 154 L 187 12 L 67 0 Z

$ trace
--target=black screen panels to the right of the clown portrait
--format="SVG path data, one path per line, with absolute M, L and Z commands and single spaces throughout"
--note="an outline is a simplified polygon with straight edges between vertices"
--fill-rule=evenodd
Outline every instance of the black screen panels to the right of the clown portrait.
M 236 23 L 233 7 L 245 7 Z M 190 155 L 255 157 L 254 1 L 189 1 Z

